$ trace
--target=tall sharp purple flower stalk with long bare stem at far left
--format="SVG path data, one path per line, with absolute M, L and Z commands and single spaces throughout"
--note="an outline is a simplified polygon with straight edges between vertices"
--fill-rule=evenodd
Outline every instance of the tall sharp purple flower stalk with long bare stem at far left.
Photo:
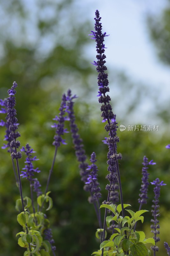
M 14 151 L 12 150 L 11 153 L 11 157 L 12 159 L 16 159 L 16 164 L 17 164 L 17 172 L 18 172 L 18 181 L 19 181 L 19 190 L 20 190 L 20 196 L 21 196 L 21 203 L 22 203 L 22 210 L 23 212 L 25 212 L 24 209 L 24 200 L 23 200 L 23 194 L 22 194 L 22 185 L 21 185 L 21 177 L 20 177 L 20 171 L 19 171 L 19 164 L 18 164 L 18 159 L 20 159 L 22 157 L 22 154 L 20 151 L 17 151 L 17 149 L 20 147 L 20 142 L 19 140 L 17 140 L 18 137 L 20 137 L 20 133 L 17 131 L 18 129 L 18 119 L 16 117 L 17 112 L 15 107 L 15 94 L 16 94 L 16 90 L 15 88 L 18 86 L 18 84 L 16 82 L 13 83 L 11 89 L 8 90 L 8 94 L 9 97 L 7 98 L 8 103 L 7 103 L 7 116 L 8 116 L 8 124 L 9 124 L 9 137 L 11 138 L 11 149 L 14 148 Z M 28 228 L 27 225 L 26 226 L 26 233 L 28 234 Z M 28 243 L 29 245 L 29 250 L 31 252 L 31 246 L 30 243 Z M 32 255 L 32 253 L 31 253 Z

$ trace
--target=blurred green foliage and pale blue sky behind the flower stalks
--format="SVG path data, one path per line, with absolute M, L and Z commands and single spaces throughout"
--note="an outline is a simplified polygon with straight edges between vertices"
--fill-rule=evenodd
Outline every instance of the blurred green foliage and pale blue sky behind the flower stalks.
M 88 34 L 94 29 L 95 10 L 102 16 L 110 97 L 119 124 L 159 125 L 157 132 L 118 129 L 118 152 L 123 155 L 120 171 L 124 202 L 138 210 L 143 156 L 157 164 L 150 167 L 150 181 L 159 177 L 167 183 L 160 197 L 160 238 L 158 256 L 166 255 L 163 242 L 169 242 L 170 227 L 170 1 L 89 1 L 89 0 L 0 0 L 0 98 L 7 97 L 12 82 L 18 83 L 17 117 L 20 142 L 29 143 L 39 158 L 37 176 L 45 189 L 54 147 L 53 118 L 59 113 L 63 92 L 71 88 L 79 98 L 75 103 L 76 123 L 88 156 L 95 151 L 102 200 L 107 193 L 106 136 L 97 100 L 96 45 Z M 1 115 L 4 118 L 3 115 Z M 1 128 L 3 144 L 5 129 Z M 83 190 L 70 134 L 67 145 L 57 153 L 50 183 L 53 209 L 47 215 L 60 256 L 86 256 L 99 248 L 98 228 L 93 205 Z M 24 167 L 24 156 L 20 169 Z M 0 256 L 23 255 L 17 244 L 15 200 L 18 188 L 11 158 L 0 150 Z M 24 196 L 29 196 L 27 181 L 22 180 Z M 153 187 L 149 187 L 151 211 Z M 150 232 L 151 212 L 145 213 Z

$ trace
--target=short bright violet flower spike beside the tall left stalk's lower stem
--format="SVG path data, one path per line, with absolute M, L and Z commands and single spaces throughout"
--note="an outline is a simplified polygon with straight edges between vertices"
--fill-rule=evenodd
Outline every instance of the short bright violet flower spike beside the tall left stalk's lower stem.
M 35 151 L 33 151 L 33 149 L 29 146 L 28 143 L 26 144 L 25 147 L 22 147 L 21 151 L 25 152 L 27 157 L 26 157 L 26 161 L 25 161 L 26 165 L 23 168 L 23 170 L 25 170 L 25 171 L 21 171 L 20 176 L 22 176 L 23 178 L 26 178 L 29 181 L 34 181 L 34 174 L 36 172 L 40 172 L 40 170 L 38 167 L 36 169 L 34 169 L 32 162 L 37 161 L 39 159 L 37 159 L 36 156 L 32 157 L 32 153 L 35 153 Z M 37 185 L 38 184 L 35 183 L 34 189 L 36 188 Z

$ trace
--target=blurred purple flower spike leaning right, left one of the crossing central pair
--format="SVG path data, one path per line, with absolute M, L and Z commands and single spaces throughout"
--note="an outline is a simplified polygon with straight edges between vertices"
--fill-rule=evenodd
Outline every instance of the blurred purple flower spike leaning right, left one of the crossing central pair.
M 69 118 L 65 116 L 66 114 L 66 95 L 65 94 L 63 94 L 62 96 L 62 101 L 61 101 L 59 110 L 60 110 L 59 116 L 55 116 L 55 118 L 53 118 L 53 120 L 56 120 L 57 123 L 54 123 L 51 126 L 56 129 L 53 145 L 56 146 L 57 148 L 60 146 L 61 143 L 67 144 L 65 140 L 63 140 L 61 137 L 62 135 L 64 135 L 64 133 L 68 132 L 67 129 L 64 129 L 64 122 L 66 120 L 69 120 Z

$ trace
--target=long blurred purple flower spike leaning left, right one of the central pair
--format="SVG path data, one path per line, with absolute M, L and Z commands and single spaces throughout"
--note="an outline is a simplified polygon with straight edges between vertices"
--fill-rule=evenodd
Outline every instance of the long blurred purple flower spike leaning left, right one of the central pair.
M 83 141 L 80 138 L 80 135 L 78 134 L 78 128 L 75 124 L 75 115 L 74 115 L 74 102 L 73 100 L 77 98 L 76 95 L 72 96 L 71 90 L 69 89 L 67 91 L 67 113 L 68 117 L 70 119 L 70 131 L 71 136 L 73 139 L 74 149 L 75 149 L 75 155 L 77 157 L 80 168 L 80 175 L 81 180 L 85 183 L 84 190 L 89 191 L 90 190 L 90 184 L 86 183 L 87 178 L 89 177 L 90 171 L 87 170 L 88 164 L 86 163 L 87 156 L 85 155 L 84 145 Z

